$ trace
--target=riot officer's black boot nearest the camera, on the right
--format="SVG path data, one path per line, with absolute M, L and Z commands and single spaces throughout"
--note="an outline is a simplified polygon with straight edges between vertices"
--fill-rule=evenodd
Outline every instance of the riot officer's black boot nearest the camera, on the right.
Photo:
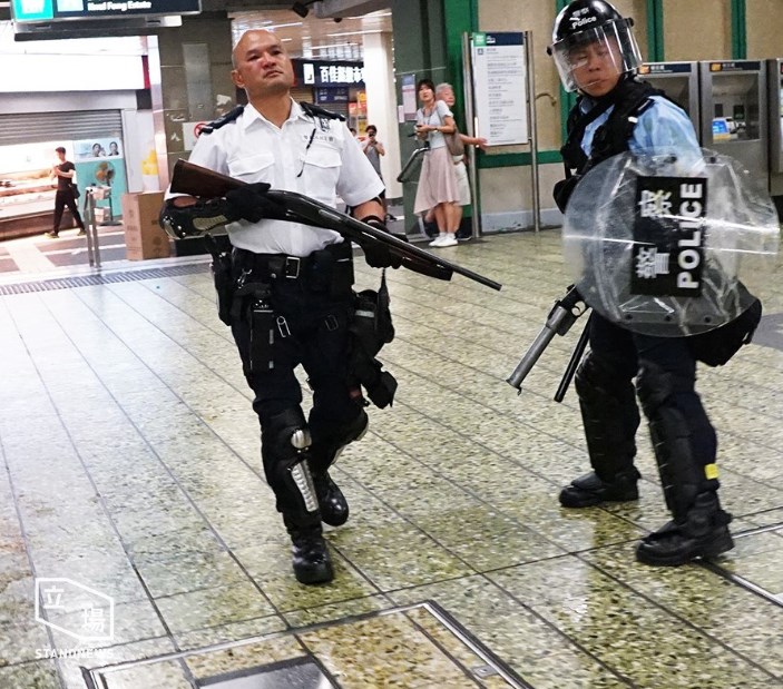
M 721 509 L 717 493 L 699 493 L 682 523 L 672 521 L 637 545 L 636 559 L 645 564 L 677 567 L 696 558 L 715 558 L 734 548 L 731 521 L 732 515 Z

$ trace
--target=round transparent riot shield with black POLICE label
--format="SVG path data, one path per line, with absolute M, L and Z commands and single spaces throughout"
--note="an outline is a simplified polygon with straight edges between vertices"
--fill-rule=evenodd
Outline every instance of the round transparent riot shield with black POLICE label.
M 742 314 L 775 265 L 770 196 L 728 156 L 625 152 L 579 181 L 562 230 L 585 302 L 637 333 L 697 335 Z

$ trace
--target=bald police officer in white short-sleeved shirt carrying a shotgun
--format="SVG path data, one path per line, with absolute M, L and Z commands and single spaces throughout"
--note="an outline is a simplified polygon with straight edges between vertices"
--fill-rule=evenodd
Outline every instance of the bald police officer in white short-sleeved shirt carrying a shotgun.
M 226 319 L 255 393 L 266 480 L 291 534 L 296 579 L 322 583 L 334 574 L 321 522 L 336 526 L 349 515 L 327 469 L 368 427 L 361 392 L 356 397 L 348 383 L 351 244 L 330 229 L 275 219 L 280 209 L 264 193 L 270 185 L 332 207 L 339 195 L 355 217 L 385 229 L 384 188 L 339 116 L 292 100 L 293 67 L 274 33 L 245 32 L 233 60 L 248 105 L 203 130 L 190 161 L 249 184 L 223 199 L 170 197 L 162 223 L 180 234 L 227 227 L 237 293 Z M 378 243 L 365 259 L 400 265 Z M 313 390 L 306 420 L 298 364 Z

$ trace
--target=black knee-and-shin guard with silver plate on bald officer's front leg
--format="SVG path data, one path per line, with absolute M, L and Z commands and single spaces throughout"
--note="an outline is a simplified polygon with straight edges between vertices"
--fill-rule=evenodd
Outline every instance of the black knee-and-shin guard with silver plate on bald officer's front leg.
M 262 422 L 261 456 L 280 512 L 317 512 L 307 460 L 312 444 L 304 414 L 290 407 Z

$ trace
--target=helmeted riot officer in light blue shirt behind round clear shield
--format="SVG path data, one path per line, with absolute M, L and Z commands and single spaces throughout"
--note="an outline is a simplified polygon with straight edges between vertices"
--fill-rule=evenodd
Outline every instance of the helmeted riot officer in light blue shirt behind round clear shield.
M 555 187 L 564 211 L 580 178 L 610 156 L 653 149 L 701 155 L 685 112 L 636 78 L 642 59 L 632 27 L 633 19 L 604 0 L 574 0 L 555 21 L 548 52 L 565 88 L 579 92 L 561 149 L 566 178 Z M 576 390 L 593 471 L 564 488 L 560 503 L 586 508 L 638 498 L 636 392 L 673 515 L 638 544 L 637 559 L 678 565 L 732 549 L 731 515 L 717 496 L 715 431 L 695 391 L 688 338 L 630 332 L 595 311 L 588 327 L 590 348 Z

